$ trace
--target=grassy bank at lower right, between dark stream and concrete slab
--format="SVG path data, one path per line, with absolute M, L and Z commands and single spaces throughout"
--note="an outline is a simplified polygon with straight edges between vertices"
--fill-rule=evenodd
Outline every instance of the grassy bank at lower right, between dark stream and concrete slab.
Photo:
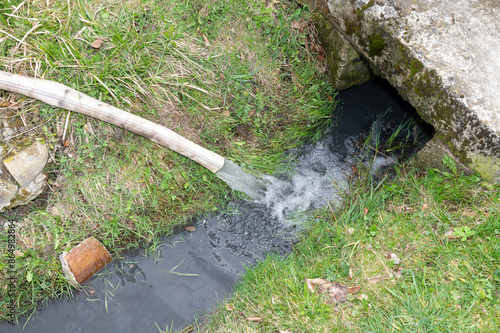
M 252 268 L 197 331 L 497 332 L 500 185 L 445 165 L 358 181 L 343 209 L 319 212 L 288 258 Z M 360 290 L 332 304 L 308 290 L 312 278 Z

